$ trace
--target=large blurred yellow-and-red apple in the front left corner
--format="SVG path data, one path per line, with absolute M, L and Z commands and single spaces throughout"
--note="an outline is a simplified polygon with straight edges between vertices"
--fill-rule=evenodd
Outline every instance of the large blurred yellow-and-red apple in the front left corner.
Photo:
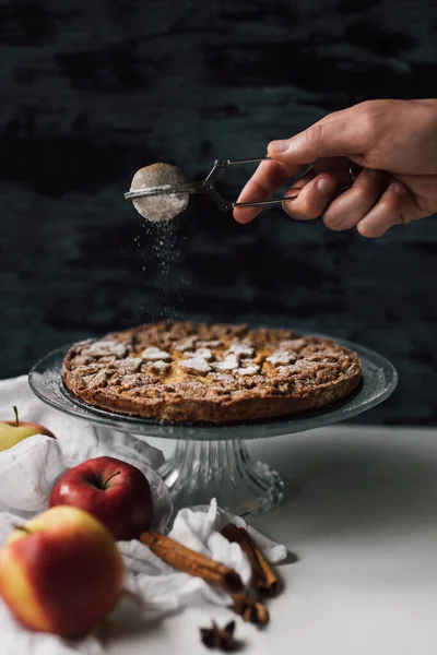
M 116 605 L 123 564 L 102 523 L 76 508 L 54 508 L 14 529 L 0 550 L 0 596 L 26 627 L 73 635 Z

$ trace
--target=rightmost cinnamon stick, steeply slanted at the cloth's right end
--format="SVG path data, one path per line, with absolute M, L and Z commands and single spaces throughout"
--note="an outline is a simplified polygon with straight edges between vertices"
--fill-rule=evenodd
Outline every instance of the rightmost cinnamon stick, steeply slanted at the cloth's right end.
M 273 571 L 261 550 L 253 544 L 249 533 L 244 527 L 228 523 L 222 529 L 222 535 L 228 541 L 239 544 L 249 558 L 252 568 L 251 586 L 260 598 L 271 598 L 280 592 L 280 579 Z

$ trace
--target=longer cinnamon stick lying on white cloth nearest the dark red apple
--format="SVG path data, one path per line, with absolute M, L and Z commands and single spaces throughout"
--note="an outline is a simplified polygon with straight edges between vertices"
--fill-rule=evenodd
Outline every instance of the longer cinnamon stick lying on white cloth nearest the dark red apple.
M 140 537 L 140 541 L 149 546 L 152 552 L 178 571 L 189 573 L 194 577 L 201 577 L 225 592 L 235 593 L 244 588 L 241 579 L 236 571 L 215 562 L 205 555 L 182 546 L 172 537 L 167 537 L 162 533 L 144 532 Z

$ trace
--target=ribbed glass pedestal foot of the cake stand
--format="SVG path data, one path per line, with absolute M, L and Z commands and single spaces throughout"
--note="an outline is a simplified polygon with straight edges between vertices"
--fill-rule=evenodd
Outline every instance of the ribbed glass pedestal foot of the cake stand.
M 267 512 L 284 498 L 284 483 L 275 471 L 249 457 L 245 442 L 178 440 L 174 454 L 160 468 L 175 510 L 209 504 L 238 514 Z

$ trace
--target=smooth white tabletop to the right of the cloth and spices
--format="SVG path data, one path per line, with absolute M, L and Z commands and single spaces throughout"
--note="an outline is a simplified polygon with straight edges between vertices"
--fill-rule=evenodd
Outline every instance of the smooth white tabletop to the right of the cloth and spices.
M 172 442 L 151 439 L 172 452 Z M 300 492 L 250 520 L 298 556 L 259 632 L 237 619 L 248 655 L 437 654 L 437 429 L 338 426 L 249 442 Z M 111 654 L 209 653 L 199 628 L 215 607 L 146 624 L 122 605 Z M 216 651 L 212 651 L 216 652 Z

